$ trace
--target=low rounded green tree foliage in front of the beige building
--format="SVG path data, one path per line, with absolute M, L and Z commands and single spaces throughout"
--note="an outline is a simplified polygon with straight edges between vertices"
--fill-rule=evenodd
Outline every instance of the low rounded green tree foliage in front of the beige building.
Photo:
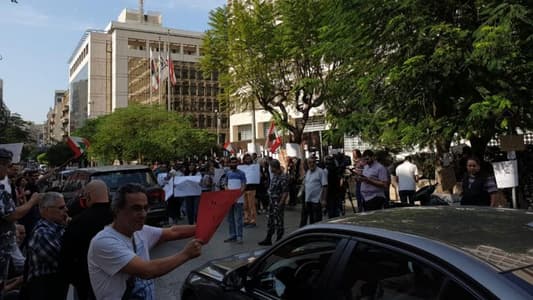
M 194 129 L 188 119 L 158 106 L 130 105 L 90 120 L 74 133 L 87 138 L 89 155 L 106 163 L 168 161 L 208 154 L 216 137 Z

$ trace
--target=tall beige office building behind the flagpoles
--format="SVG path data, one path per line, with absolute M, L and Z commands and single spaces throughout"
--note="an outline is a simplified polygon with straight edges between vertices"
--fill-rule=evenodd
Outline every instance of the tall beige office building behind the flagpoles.
M 140 19 L 129 9 L 105 30 L 86 31 L 69 60 L 70 129 L 131 103 L 151 103 L 190 116 L 195 127 L 218 131 L 224 140 L 229 120 L 220 113 L 218 78 L 204 78 L 198 64 L 202 38 L 199 32 L 163 27 L 158 13 Z M 170 51 L 177 79 L 170 93 L 166 81 L 150 88 L 150 49 L 165 59 Z

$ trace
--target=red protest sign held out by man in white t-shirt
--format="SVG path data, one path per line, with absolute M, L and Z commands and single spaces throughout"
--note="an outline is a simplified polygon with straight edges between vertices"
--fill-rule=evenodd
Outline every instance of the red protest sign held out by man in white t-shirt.
M 202 193 L 196 219 L 195 237 L 207 244 L 240 195 L 240 190 Z

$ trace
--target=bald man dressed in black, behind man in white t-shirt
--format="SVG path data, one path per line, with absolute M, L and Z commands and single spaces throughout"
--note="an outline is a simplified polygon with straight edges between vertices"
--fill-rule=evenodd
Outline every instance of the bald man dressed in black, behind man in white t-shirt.
M 102 180 L 89 182 L 83 190 L 87 208 L 74 217 L 63 236 L 61 270 L 76 289 L 78 299 L 93 299 L 87 251 L 91 239 L 113 221 L 109 190 Z

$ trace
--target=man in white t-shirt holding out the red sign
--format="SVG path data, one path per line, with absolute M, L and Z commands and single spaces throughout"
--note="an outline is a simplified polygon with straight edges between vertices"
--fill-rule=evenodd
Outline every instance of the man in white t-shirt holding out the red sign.
M 191 240 L 180 252 L 154 260 L 150 260 L 150 249 L 162 242 L 191 237 L 196 227 L 163 229 L 144 225 L 148 199 L 138 184 L 122 186 L 111 208 L 113 223 L 92 239 L 87 254 L 96 299 L 155 299 L 152 279 L 199 256 L 201 244 Z

